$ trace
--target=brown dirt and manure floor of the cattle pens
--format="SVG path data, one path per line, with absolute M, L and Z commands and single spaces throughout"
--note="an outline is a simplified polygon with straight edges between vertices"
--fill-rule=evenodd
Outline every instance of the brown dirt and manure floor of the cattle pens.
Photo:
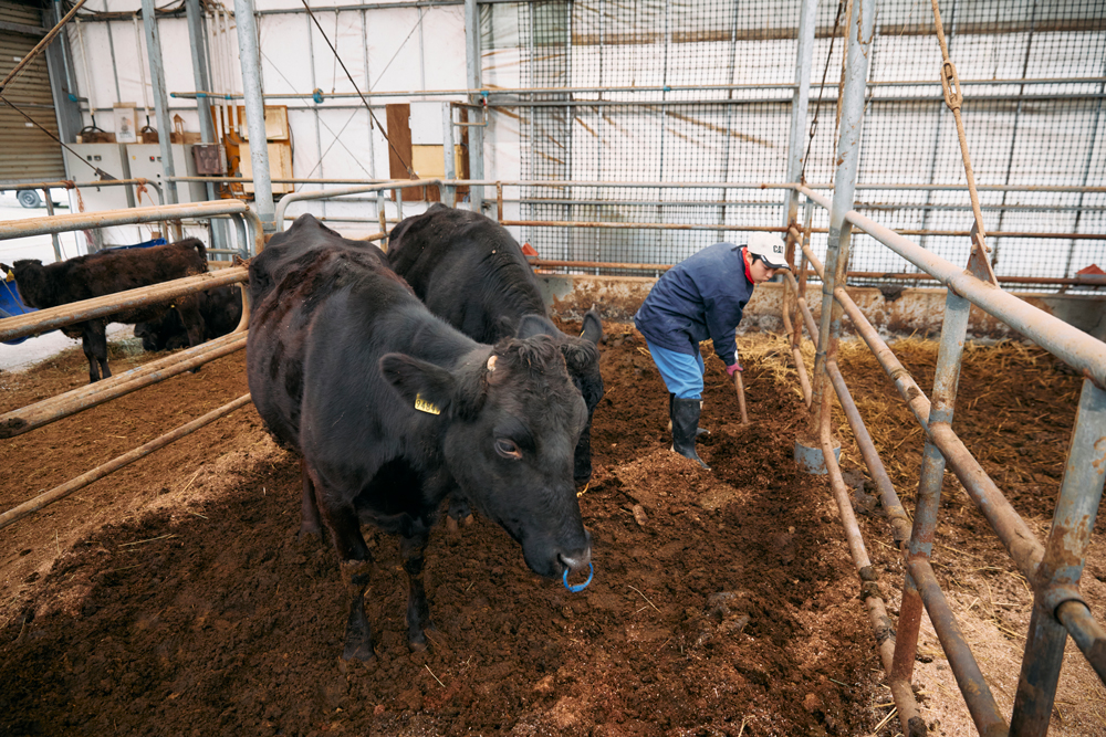
M 366 609 L 380 656 L 343 662 L 335 554 L 298 541 L 296 459 L 248 406 L 0 529 L 0 734 L 899 734 L 825 478 L 792 460 L 806 415 L 786 344 L 741 339 L 748 427 L 708 358 L 702 472 L 668 451 L 667 396 L 640 336 L 606 327 L 580 499 L 594 540 L 585 591 L 535 577 L 487 520 L 439 526 L 426 573 L 438 632 L 431 653 L 411 654 L 398 545 L 373 534 Z M 896 346 L 928 388 L 933 344 Z M 131 341 L 111 359 L 119 372 L 149 356 Z M 910 509 L 920 430 L 865 351 L 843 349 L 842 364 Z M 246 393 L 243 366 L 239 352 L 0 441 L 0 510 Z M 83 377 L 79 349 L 0 372 L 0 411 Z M 1043 535 L 1079 380 L 1004 344 L 970 349 L 960 386 L 958 429 Z M 863 488 L 856 499 L 894 617 L 901 565 L 878 507 Z M 954 480 L 942 506 L 938 572 L 1009 715 L 1032 597 Z M 1084 576 L 1099 618 L 1103 528 Z M 918 660 L 932 734 L 973 734 L 928 620 Z M 1104 704 L 1070 645 L 1052 734 L 1104 734 Z

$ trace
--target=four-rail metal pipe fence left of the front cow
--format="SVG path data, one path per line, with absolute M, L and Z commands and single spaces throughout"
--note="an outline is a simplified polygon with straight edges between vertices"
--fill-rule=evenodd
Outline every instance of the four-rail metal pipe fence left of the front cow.
M 223 200 L 198 204 L 173 204 L 157 208 L 71 213 L 50 218 L 0 222 L 0 241 L 41 233 L 60 233 L 84 228 L 133 224 L 180 218 L 230 217 L 238 223 L 242 242 L 253 253 L 263 248 L 261 222 L 246 202 Z M 201 274 L 152 286 L 75 302 L 38 312 L 0 319 L 0 340 L 10 340 L 64 325 L 105 318 L 122 309 L 166 303 L 184 294 L 201 292 L 218 286 L 243 283 L 249 278 L 244 266 L 230 266 L 217 273 Z M 242 288 L 242 317 L 238 327 L 227 336 L 174 354 L 102 381 L 64 392 L 56 397 L 23 407 L 0 415 L 0 439 L 24 432 L 70 417 L 112 399 L 158 383 L 204 364 L 221 358 L 246 347 L 246 331 L 250 318 L 248 293 Z M 213 422 L 249 402 L 249 394 L 194 420 L 160 438 L 134 449 L 107 463 L 93 468 L 60 486 L 41 494 L 12 509 L 0 514 L 0 528 L 10 525 L 44 506 L 52 504 L 107 474 Z

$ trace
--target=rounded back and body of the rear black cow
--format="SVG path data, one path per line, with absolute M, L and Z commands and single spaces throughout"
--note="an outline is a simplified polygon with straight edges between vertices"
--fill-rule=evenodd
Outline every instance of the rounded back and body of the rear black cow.
M 480 343 L 514 335 L 523 315 L 545 315 L 533 270 L 505 228 L 434 204 L 392 231 L 388 262 L 435 315 Z

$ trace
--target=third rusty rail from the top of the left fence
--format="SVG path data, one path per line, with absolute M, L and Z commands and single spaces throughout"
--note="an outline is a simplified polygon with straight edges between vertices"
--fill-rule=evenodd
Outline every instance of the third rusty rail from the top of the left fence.
M 14 438 L 36 428 L 50 424 L 86 409 L 103 404 L 112 399 L 129 394 L 202 366 L 218 358 L 246 348 L 246 333 L 232 333 L 222 338 L 186 351 L 168 356 L 158 361 L 139 366 L 103 381 L 28 404 L 27 407 L 0 415 L 0 439 Z

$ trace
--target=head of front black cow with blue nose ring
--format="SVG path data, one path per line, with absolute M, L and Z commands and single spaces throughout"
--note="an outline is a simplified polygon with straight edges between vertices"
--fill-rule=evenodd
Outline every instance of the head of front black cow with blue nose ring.
M 481 346 L 452 371 L 401 354 L 385 355 L 380 368 L 409 406 L 444 415 L 449 471 L 522 546 L 531 570 L 587 568 L 591 536 L 572 474 L 587 411 L 551 338 Z

